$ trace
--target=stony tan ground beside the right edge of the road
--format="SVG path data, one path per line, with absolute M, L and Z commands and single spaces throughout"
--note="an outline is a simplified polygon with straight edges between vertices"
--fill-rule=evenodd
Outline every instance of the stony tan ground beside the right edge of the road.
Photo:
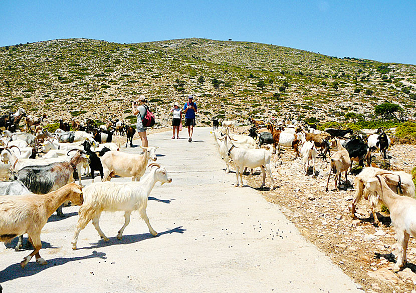
M 393 145 L 390 149 L 392 169 L 410 171 L 415 165 L 416 145 Z M 378 153 L 375 154 L 379 156 Z M 366 292 L 416 292 L 416 240 L 410 238 L 407 266 L 398 273 L 391 267 L 394 259 L 394 231 L 388 225 L 390 217 L 378 207 L 383 225 L 375 227 L 368 201 L 357 206 L 358 219 L 351 217 L 354 189 L 325 191 L 328 163 L 321 158 L 316 163 L 317 178 L 303 175 L 300 158 L 286 149 L 279 157 L 273 155 L 277 188 L 262 191 L 264 197 L 281 206 L 305 238 L 324 251 Z M 260 186 L 261 173 L 245 176 L 250 186 Z M 353 183 L 354 176 L 348 175 Z M 269 181 L 266 179 L 266 186 Z

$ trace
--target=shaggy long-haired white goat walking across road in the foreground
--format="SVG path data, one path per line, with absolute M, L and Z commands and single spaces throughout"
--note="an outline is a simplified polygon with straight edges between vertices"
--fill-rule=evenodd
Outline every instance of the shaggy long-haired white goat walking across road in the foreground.
M 75 229 L 74 239 L 72 240 L 72 249 L 77 249 L 78 235 L 90 220 L 97 230 L 98 234 L 108 241 L 99 226 L 100 215 L 102 211 L 124 210 L 124 225 L 118 231 L 117 238 L 122 239 L 124 228 L 130 222 L 130 215 L 133 210 L 138 210 L 140 216 L 144 219 L 153 236 L 157 232 L 152 228 L 149 218 L 146 214 L 147 198 L 156 182 L 172 182 L 164 167 L 159 164 L 151 163 L 149 165 L 150 173 L 143 177 L 139 182 L 96 182 L 84 187 L 84 204 L 79 209 L 78 223 Z

